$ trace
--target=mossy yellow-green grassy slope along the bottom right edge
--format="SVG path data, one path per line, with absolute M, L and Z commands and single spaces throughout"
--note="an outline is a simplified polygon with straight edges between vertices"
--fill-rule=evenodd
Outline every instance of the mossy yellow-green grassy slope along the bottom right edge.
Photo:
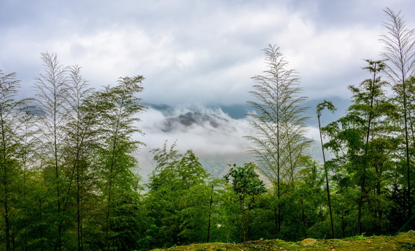
M 178 246 L 167 250 L 415 250 L 415 232 L 402 233 L 398 236 L 373 236 L 346 238 L 343 240 L 318 240 L 315 244 L 302 246 L 299 243 L 290 243 L 280 240 L 249 241 L 244 244 L 235 243 L 208 243 Z

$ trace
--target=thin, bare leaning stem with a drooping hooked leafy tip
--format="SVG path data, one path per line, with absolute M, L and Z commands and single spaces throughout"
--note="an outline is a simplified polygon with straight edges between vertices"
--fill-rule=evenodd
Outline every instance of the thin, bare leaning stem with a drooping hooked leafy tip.
M 330 101 L 324 100 L 320 104 L 317 105 L 317 119 L 318 119 L 318 130 L 320 131 L 320 142 L 321 142 L 321 149 L 323 153 L 323 166 L 324 166 L 324 176 L 326 176 L 326 190 L 327 190 L 327 201 L 329 202 L 329 213 L 330 213 L 330 222 L 331 222 L 331 235 L 333 238 L 336 238 L 336 233 L 334 231 L 334 220 L 333 220 L 333 212 L 331 211 L 331 199 L 330 199 L 330 188 L 329 188 L 329 172 L 327 171 L 326 165 L 326 156 L 324 155 L 324 144 L 322 138 L 322 131 L 321 131 L 321 123 L 320 123 L 320 116 L 323 109 L 327 108 L 330 112 L 336 112 L 336 107 L 334 107 L 333 103 Z

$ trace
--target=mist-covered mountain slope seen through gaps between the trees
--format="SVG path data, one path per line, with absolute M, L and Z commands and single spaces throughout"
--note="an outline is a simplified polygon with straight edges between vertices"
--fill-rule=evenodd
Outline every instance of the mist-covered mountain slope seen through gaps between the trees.
M 149 108 L 141 114 L 139 124 L 146 135 L 137 138 L 146 144 L 137 155 L 141 167 L 139 174 L 144 181 L 148 180 L 155 167 L 149 151 L 162 147 L 166 141 L 169 146 L 176 142 L 176 149 L 182 153 L 192 149 L 203 167 L 218 178 L 226 174 L 228 164 L 242 165 L 253 160 L 248 153 L 251 142 L 244 139 L 244 136 L 253 135 L 255 131 L 249 127 L 246 116 L 235 119 L 239 116 L 233 114 L 233 117 L 220 107 L 189 109 L 169 105 L 147 106 Z M 240 108 L 244 112 L 249 111 L 249 107 Z M 239 114 L 241 113 L 240 111 Z M 308 129 L 307 137 L 316 140 L 311 144 L 310 155 L 322 162 L 318 128 L 311 126 Z

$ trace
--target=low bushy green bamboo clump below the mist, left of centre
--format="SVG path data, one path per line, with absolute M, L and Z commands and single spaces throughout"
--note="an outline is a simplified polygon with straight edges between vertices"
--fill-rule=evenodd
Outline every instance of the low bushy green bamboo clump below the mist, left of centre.
M 168 148 L 165 142 L 163 148 L 153 149 L 152 153 L 157 169 L 148 183 L 146 205 L 148 217 L 159 229 L 159 238 L 153 239 L 152 245 L 205 241 L 212 210 L 212 190 L 207 183 L 210 175 L 191 150 L 179 153 L 175 144 Z M 216 198 L 217 192 L 213 192 Z

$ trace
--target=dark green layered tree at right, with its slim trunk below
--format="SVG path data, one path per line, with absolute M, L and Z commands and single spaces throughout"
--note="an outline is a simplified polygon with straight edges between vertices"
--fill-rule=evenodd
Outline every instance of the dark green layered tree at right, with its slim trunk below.
M 359 188 L 357 205 L 357 233 L 361 234 L 362 205 L 369 199 L 368 192 L 374 187 L 374 177 L 381 175 L 382 170 L 389 168 L 391 154 L 396 147 L 395 129 L 390 126 L 395 119 L 395 106 L 386 98 L 384 86 L 386 82 L 378 76 L 383 70 L 383 61 L 366 60 L 372 77 L 359 86 L 349 86 L 353 94 L 352 105 L 347 114 L 334 123 L 322 128 L 330 135 L 329 142 L 324 144 L 334 153 L 338 167 L 346 167 L 350 176 L 357 177 L 356 187 Z M 377 170 L 377 171 L 376 171 Z M 370 178 L 370 179 L 369 179 Z M 379 182 L 386 180 L 379 177 Z

